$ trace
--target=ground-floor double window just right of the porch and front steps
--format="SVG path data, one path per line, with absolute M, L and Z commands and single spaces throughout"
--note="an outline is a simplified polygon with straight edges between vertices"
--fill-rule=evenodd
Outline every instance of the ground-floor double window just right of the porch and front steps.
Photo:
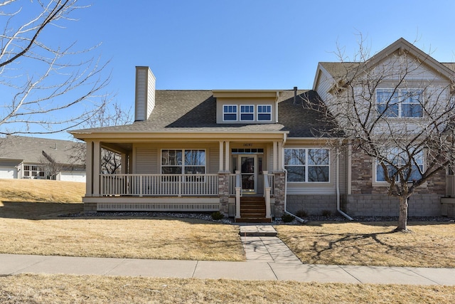
M 328 182 L 328 149 L 284 149 L 287 182 Z

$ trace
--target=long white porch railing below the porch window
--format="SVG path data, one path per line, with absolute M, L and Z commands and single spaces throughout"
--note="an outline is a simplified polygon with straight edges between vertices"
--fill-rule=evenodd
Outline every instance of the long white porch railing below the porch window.
M 218 174 L 100 174 L 102 196 L 213 196 Z

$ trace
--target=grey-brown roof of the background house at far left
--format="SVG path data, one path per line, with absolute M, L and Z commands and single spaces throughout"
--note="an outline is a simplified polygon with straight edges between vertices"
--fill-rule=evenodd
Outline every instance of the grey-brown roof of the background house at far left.
M 10 135 L 0 138 L 0 157 L 1 159 L 21 159 L 26 163 L 39 164 L 43 162 L 44 154 L 46 154 L 59 164 L 74 164 L 75 161 L 70 159 L 70 154 L 74 153 L 75 145 L 85 144 L 69 140 Z M 83 164 L 83 162 L 75 164 Z

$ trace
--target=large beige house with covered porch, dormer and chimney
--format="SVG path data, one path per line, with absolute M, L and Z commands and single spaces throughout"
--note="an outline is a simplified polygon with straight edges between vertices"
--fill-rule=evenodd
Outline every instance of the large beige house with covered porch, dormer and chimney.
M 403 46 L 423 53 L 400 39 L 375 60 Z M 453 79 L 446 65 L 428 60 L 422 68 Z M 331 109 L 341 68 L 319 63 L 313 90 L 155 90 L 151 70 L 137 67 L 132 125 L 71 131 L 87 142 L 85 211 L 221 211 L 236 221 L 300 210 L 397 216 L 374 160 L 354 156 L 350 145 L 327 145 L 333 139 L 317 130 L 333 125 L 305 105 Z M 100 172 L 102 149 L 122 156 L 121 174 Z M 412 196 L 410 216 L 453 213 L 441 205 L 445 189 L 442 172 Z

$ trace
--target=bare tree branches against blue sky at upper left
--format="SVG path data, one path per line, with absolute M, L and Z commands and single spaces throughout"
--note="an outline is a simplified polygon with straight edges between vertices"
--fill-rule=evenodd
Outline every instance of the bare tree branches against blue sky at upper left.
M 106 98 L 107 63 L 97 48 L 58 45 L 77 0 L 0 0 L 0 134 L 68 130 L 96 114 Z

